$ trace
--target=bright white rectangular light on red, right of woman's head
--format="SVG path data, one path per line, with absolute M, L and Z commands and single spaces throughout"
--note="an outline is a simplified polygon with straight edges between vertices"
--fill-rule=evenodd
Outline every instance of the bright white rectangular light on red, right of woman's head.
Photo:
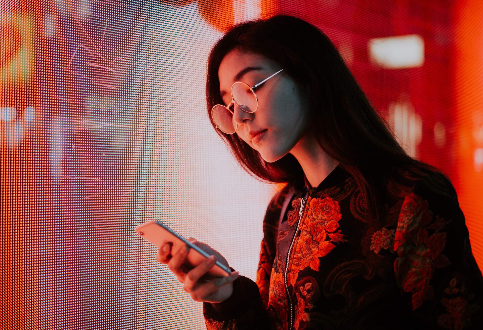
M 386 69 L 420 67 L 424 63 L 424 40 L 417 34 L 369 39 L 369 59 Z

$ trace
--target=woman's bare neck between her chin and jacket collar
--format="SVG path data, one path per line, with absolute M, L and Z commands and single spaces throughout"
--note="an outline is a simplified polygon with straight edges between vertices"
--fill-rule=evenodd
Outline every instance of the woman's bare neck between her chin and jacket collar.
M 297 158 L 312 187 L 317 187 L 340 163 L 329 157 L 315 137 L 309 134 L 302 137 L 290 153 Z

